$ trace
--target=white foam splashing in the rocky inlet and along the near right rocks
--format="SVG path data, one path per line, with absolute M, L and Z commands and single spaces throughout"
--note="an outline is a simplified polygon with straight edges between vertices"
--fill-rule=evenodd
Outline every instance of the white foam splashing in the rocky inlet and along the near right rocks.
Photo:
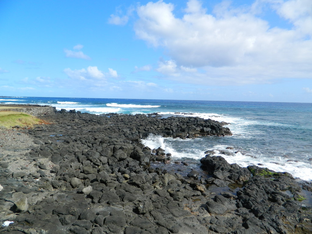
M 173 138 L 163 138 L 158 135 L 150 134 L 147 139 L 143 139 L 142 143 L 151 149 L 157 149 L 161 147 L 165 150 L 165 153 L 170 153 L 173 158 L 193 158 L 199 160 L 204 157 L 203 142 L 197 142 L 198 139 L 173 139 Z M 175 141 L 179 142 L 179 149 L 175 149 L 173 143 Z M 190 144 L 194 142 L 194 144 Z M 188 145 L 188 146 L 187 146 Z M 191 146 L 192 145 L 192 146 Z M 300 178 L 303 180 L 312 180 L 312 166 L 310 163 L 305 162 L 287 162 L 289 158 L 281 157 L 267 157 L 266 155 L 257 154 L 254 155 L 252 152 L 240 152 L 238 149 L 226 149 L 229 145 L 214 145 L 211 148 L 205 148 L 205 150 L 214 150 L 216 156 L 222 156 L 227 160 L 228 163 L 237 163 L 241 167 L 247 167 L 249 165 L 256 165 L 263 168 L 269 168 L 276 172 L 288 172 L 292 174 L 295 178 Z M 191 147 L 188 149 L 187 147 Z M 202 149 L 200 149 L 202 148 Z M 231 153 L 231 155 L 222 154 L 222 152 Z M 235 152 L 238 151 L 236 154 Z M 258 163 L 262 165 L 258 165 Z M 278 163 L 278 164 L 276 164 Z

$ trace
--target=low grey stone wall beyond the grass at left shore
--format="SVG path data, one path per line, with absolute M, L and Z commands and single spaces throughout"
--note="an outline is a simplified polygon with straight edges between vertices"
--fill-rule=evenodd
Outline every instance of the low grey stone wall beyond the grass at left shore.
M 1 104 L 0 111 L 25 112 L 33 116 L 54 115 L 55 109 L 48 105 L 9 105 Z

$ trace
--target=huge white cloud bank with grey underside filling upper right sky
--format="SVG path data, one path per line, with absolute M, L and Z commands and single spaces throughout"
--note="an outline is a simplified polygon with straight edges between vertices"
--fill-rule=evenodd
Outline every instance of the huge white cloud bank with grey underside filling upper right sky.
M 270 25 L 261 19 L 255 5 L 259 9 L 270 6 L 292 28 Z M 149 2 L 137 8 L 134 30 L 138 38 L 168 51 L 170 59 L 160 61 L 156 70 L 170 74 L 171 79 L 180 77 L 180 82 L 253 84 L 309 78 L 311 6 L 310 0 L 258 0 L 235 8 L 227 1 L 208 14 L 200 1 L 190 0 L 183 16 L 176 17 L 172 3 Z M 185 73 L 194 73 L 195 79 Z

